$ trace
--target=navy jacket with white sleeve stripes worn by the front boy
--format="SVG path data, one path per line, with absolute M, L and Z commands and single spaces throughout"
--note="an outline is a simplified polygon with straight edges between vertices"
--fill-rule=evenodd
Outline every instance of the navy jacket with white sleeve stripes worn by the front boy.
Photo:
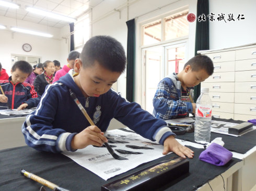
M 30 147 L 50 152 L 74 151 L 71 148 L 73 136 L 90 124 L 72 99 L 69 89 L 86 106 L 88 98 L 84 97 L 69 73 L 48 85 L 38 108 L 27 116 L 22 125 L 22 133 Z M 161 144 L 166 137 L 175 135 L 166 127 L 165 121 L 154 118 L 138 104 L 126 101 L 112 89 L 99 97 L 89 97 L 85 109 L 102 132 L 115 118 L 143 137 Z

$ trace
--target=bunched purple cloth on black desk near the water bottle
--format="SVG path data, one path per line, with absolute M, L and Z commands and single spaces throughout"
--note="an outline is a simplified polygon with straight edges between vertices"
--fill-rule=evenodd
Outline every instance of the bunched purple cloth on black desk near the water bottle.
M 217 166 L 225 165 L 233 154 L 226 148 L 216 143 L 212 143 L 206 150 L 201 152 L 199 159 Z

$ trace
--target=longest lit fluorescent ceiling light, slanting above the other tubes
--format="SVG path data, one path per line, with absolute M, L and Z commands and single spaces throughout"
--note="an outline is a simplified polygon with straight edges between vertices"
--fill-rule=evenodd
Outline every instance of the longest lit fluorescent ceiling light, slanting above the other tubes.
M 68 21 L 68 22 L 75 22 L 76 21 L 76 19 L 74 19 L 72 17 L 66 17 L 66 16 L 63 16 L 63 15 L 55 14 L 53 12 L 49 12 L 49 11 L 45 11 L 45 10 L 41 10 L 41 9 L 36 9 L 36 8 L 32 8 L 32 7 L 27 7 L 26 10 L 29 11 L 29 12 L 33 12 L 34 14 L 42 15 L 42 16 L 45 16 L 45 17 L 51 17 L 53 19 L 59 19 L 59 20 Z

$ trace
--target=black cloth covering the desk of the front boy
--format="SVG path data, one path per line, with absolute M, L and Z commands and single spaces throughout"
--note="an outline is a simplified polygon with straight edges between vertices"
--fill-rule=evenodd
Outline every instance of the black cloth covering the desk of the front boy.
M 192 148 L 195 151 L 194 159 L 190 161 L 190 173 L 181 177 L 174 183 L 163 185 L 158 190 L 195 190 L 208 180 L 225 172 L 239 159 L 232 158 L 225 166 L 215 165 L 200 161 L 198 159 L 203 149 Z M 61 187 L 70 190 L 100 190 L 101 185 L 112 182 L 132 172 L 153 165 L 163 158 L 167 159 L 175 154 L 164 156 L 160 159 L 143 164 L 131 171 L 104 181 L 96 174 L 76 164 L 73 160 L 62 154 L 51 154 L 34 150 L 28 146 L 4 149 L 0 151 L 0 189 L 5 190 L 39 190 L 41 185 L 24 175 L 20 169 L 23 168 L 31 173 L 43 177 Z M 50 190 L 50 189 L 49 189 Z

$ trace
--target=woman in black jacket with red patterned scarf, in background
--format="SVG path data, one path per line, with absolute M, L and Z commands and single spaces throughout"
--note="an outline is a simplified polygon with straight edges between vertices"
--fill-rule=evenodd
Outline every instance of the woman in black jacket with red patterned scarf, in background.
M 52 84 L 54 79 L 55 66 L 50 60 L 43 63 L 44 72 L 37 76 L 34 80 L 34 89 L 37 91 L 38 95 L 43 95 L 46 85 Z

